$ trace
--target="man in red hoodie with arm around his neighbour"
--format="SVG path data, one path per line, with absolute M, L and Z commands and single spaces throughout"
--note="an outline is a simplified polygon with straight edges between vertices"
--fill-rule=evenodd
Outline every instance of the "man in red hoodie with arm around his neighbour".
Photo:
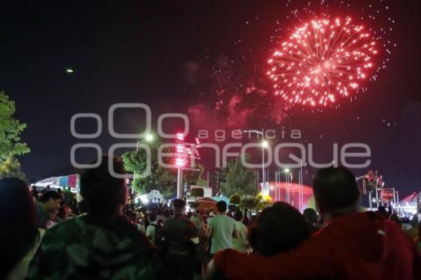
M 416 244 L 396 225 L 360 212 L 359 188 L 344 167 L 320 169 L 313 184 L 326 226 L 274 256 L 218 252 L 210 271 L 226 279 L 421 279 Z

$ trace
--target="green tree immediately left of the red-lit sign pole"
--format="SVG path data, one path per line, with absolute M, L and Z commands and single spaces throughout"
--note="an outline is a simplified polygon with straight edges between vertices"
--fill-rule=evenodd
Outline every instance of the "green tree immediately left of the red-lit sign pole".
M 176 177 L 173 170 L 164 168 L 158 163 L 158 148 L 160 142 L 149 145 L 151 149 L 151 173 L 147 176 L 133 179 L 132 187 L 136 192 L 148 193 L 153 189 L 159 190 L 163 196 L 172 196 L 175 194 Z M 170 148 L 164 148 L 164 153 L 169 153 Z M 145 149 L 138 149 L 129 151 L 122 155 L 124 167 L 129 172 L 136 172 L 136 175 L 141 175 L 145 172 L 147 167 L 147 155 Z M 165 163 L 169 163 L 169 159 L 164 159 Z

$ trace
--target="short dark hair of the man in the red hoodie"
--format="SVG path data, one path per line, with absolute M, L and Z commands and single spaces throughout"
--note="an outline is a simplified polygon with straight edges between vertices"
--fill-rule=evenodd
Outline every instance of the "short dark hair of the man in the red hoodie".
M 360 197 L 355 175 L 345 167 L 317 171 L 313 191 L 321 213 L 355 206 Z

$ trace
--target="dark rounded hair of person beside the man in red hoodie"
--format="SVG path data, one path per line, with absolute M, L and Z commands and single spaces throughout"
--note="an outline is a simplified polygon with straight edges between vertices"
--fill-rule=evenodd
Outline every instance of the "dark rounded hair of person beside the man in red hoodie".
M 310 236 L 304 216 L 285 202 L 264 208 L 250 228 L 250 245 L 257 252 L 271 256 L 286 252 Z

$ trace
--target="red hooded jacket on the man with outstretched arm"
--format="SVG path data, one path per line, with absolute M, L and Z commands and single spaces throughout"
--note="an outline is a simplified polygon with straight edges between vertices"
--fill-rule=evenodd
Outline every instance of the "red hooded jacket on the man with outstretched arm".
M 235 250 L 214 257 L 228 279 L 421 279 L 415 242 L 374 213 L 333 220 L 287 253 L 265 257 Z

